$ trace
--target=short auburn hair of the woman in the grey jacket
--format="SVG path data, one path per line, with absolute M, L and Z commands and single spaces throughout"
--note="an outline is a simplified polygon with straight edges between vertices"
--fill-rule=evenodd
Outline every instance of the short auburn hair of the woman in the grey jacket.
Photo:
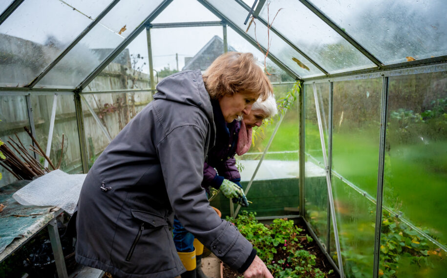
M 251 53 L 227 52 L 220 55 L 203 73 L 203 81 L 212 99 L 236 93 L 258 95 L 266 100 L 273 92 L 272 84 L 256 64 Z

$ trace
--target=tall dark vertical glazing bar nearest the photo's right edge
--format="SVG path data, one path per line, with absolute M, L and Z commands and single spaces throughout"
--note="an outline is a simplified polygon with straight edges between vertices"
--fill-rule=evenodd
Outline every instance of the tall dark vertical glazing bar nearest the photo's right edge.
M 379 171 L 377 176 L 376 227 L 374 233 L 373 277 L 379 277 L 380 237 L 382 233 L 383 167 L 385 159 L 386 108 L 388 103 L 388 77 L 382 79 L 380 116 Z

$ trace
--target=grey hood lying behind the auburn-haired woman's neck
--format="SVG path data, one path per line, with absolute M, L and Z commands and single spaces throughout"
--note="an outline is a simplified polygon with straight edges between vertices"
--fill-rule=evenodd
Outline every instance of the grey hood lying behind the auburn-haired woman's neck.
M 213 107 L 200 70 L 181 71 L 161 80 L 153 98 L 196 106 L 205 112 L 213 125 Z

